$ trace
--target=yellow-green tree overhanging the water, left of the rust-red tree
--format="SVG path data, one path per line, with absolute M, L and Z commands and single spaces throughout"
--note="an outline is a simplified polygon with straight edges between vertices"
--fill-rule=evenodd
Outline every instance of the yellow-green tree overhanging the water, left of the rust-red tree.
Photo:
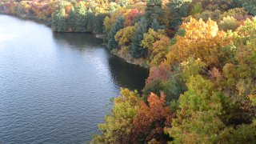
M 102 134 L 94 139 L 96 143 L 132 142 L 133 120 L 138 114 L 141 99 L 137 90 L 121 89 L 118 98 L 114 98 L 114 107 L 103 123 L 98 127 Z

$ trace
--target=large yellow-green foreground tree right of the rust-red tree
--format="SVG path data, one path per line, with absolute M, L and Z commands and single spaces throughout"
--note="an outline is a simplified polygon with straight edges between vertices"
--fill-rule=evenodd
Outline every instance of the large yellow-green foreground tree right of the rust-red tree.
M 221 118 L 225 95 L 214 90 L 213 84 L 202 76 L 190 77 L 188 91 L 179 98 L 178 118 L 166 133 L 177 143 L 214 143 L 226 128 Z

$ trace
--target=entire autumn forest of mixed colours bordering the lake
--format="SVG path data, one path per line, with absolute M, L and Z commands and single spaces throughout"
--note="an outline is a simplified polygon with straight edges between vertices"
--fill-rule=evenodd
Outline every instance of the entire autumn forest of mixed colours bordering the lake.
M 256 143 L 256 0 L 0 2 L 56 32 L 104 34 L 150 70 L 122 88 L 92 143 Z

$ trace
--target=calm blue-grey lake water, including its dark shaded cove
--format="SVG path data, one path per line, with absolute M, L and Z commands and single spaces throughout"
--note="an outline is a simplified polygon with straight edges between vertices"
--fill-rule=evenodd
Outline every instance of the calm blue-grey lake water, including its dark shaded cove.
M 0 143 L 88 141 L 119 88 L 146 77 L 92 34 L 0 15 Z

